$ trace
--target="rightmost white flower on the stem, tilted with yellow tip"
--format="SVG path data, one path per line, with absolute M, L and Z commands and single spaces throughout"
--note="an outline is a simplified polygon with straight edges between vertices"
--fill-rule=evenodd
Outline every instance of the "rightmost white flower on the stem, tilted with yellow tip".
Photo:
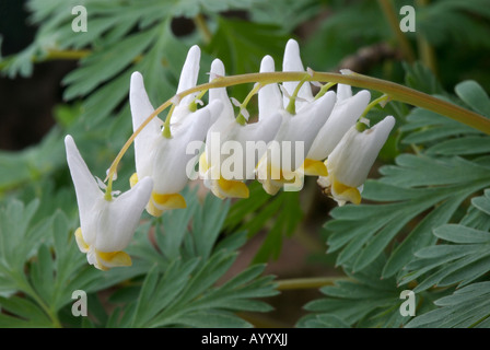
M 352 126 L 325 161 L 328 175 L 319 177 L 318 184 L 339 206 L 361 202 L 360 188 L 394 126 L 393 116 L 363 131 Z

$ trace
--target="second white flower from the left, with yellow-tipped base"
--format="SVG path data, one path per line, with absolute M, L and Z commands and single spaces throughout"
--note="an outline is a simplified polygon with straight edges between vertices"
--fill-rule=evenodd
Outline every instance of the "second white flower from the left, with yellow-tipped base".
M 194 75 L 190 75 L 189 78 L 183 72 L 182 79 L 192 80 Z M 179 85 L 188 86 L 185 82 Z M 131 75 L 129 98 L 132 127 L 137 130 L 154 112 L 139 72 Z M 188 110 L 188 106 L 186 108 Z M 172 125 L 172 138 L 163 136 L 162 121 L 156 117 L 136 137 L 136 173 L 131 176 L 131 186 L 144 176 L 153 179 L 153 191 L 147 206 L 150 214 L 159 217 L 164 210 L 186 208 L 186 201 L 178 192 L 189 180 L 187 165 L 195 156 L 187 153 L 187 145 L 189 142 L 205 139 L 211 116 L 219 115 L 221 108 L 221 102 L 215 101 L 196 112 L 188 110 L 185 116 L 182 113 L 179 121 Z

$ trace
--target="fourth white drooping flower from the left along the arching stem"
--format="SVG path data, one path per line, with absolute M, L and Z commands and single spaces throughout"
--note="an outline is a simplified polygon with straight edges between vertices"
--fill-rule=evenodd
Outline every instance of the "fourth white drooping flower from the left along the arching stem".
M 260 72 L 273 71 L 273 59 L 266 56 Z M 285 46 L 283 71 L 304 71 L 295 40 L 289 40 Z M 282 116 L 281 127 L 256 170 L 257 179 L 270 195 L 277 194 L 282 186 L 302 186 L 304 174 L 326 175 L 323 160 L 306 161 L 306 154 L 318 130 L 329 118 L 336 96 L 334 92 L 328 92 L 315 100 L 308 82 L 295 94 L 298 84 L 284 82 L 282 96 L 277 84 L 269 84 L 259 91 L 259 116 L 267 118 L 275 110 Z M 294 113 L 289 108 L 291 98 L 295 98 Z

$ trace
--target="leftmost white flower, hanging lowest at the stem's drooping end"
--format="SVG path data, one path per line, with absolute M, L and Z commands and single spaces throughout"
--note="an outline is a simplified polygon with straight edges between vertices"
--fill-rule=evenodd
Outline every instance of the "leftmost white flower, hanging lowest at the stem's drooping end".
M 65 138 L 65 147 L 80 212 L 80 228 L 75 231 L 80 250 L 101 270 L 130 266 L 131 258 L 121 250 L 135 234 L 151 195 L 152 179 L 142 178 L 132 189 L 106 199 L 71 136 Z

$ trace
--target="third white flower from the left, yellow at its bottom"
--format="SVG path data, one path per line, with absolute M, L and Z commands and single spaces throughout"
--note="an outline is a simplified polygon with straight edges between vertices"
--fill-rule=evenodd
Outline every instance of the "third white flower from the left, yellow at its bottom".
M 211 65 L 210 80 L 214 75 L 224 77 L 224 73 L 223 63 L 215 59 Z M 219 198 L 247 198 L 248 188 L 243 180 L 254 178 L 257 161 L 276 136 L 281 116 L 276 113 L 269 118 L 259 118 L 257 122 L 241 125 L 235 119 L 225 88 L 211 89 L 209 101 L 220 101 L 223 109 L 208 130 L 206 151 L 199 160 L 200 176 L 205 186 Z

